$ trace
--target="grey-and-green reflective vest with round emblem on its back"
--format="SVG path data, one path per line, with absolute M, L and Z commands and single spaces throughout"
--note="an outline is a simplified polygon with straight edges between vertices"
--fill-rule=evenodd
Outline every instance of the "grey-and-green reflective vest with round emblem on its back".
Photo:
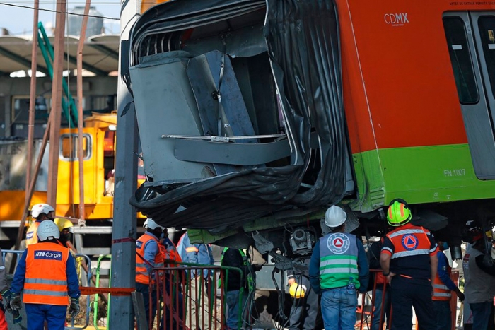
M 341 288 L 350 281 L 359 288 L 356 236 L 333 232 L 320 239 L 320 287 Z

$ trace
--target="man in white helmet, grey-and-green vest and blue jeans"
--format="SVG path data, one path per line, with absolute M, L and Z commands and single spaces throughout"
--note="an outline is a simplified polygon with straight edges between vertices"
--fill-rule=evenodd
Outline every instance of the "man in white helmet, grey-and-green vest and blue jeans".
M 310 259 L 310 283 L 321 293 L 325 330 L 354 330 L 358 297 L 366 293 L 369 269 L 363 243 L 345 232 L 347 213 L 339 206 L 325 212 L 325 225 L 332 232 L 320 238 Z

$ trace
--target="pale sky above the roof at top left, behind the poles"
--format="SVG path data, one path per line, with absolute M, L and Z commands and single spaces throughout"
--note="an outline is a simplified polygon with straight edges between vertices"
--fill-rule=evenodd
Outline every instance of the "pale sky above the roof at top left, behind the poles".
M 8 4 L 9 6 L 6 6 Z M 67 0 L 69 11 L 76 6 L 84 6 L 85 0 Z M 0 0 L 0 28 L 6 28 L 11 35 L 32 34 L 33 32 L 33 9 L 14 6 L 33 7 L 34 1 L 30 0 Z M 40 0 L 40 9 L 54 11 L 57 4 L 54 0 Z M 119 18 L 120 0 L 94 0 L 91 6 L 107 18 Z M 40 21 L 45 27 L 54 25 L 56 13 L 40 11 Z M 105 19 L 105 33 L 119 34 L 120 25 L 118 20 Z

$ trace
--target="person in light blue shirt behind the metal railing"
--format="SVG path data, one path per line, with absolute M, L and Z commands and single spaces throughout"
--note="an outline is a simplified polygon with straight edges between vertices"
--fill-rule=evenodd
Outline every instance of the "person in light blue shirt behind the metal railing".
M 189 234 L 184 233 L 177 244 L 177 252 L 182 261 L 188 264 L 200 264 L 203 271 L 192 269 L 189 271 L 185 290 L 186 305 L 190 306 L 190 315 L 186 316 L 190 329 L 197 330 L 205 326 L 206 329 L 221 329 L 221 305 L 216 303 L 215 291 L 212 286 L 212 269 L 207 267 L 214 265 L 213 253 L 209 244 L 191 244 Z M 216 312 L 215 312 L 216 310 Z M 215 315 L 217 316 L 215 318 Z

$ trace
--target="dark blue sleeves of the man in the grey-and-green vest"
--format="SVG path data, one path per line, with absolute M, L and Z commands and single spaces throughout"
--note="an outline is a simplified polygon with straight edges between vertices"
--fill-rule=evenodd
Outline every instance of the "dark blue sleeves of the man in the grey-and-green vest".
M 365 293 L 369 280 L 368 259 L 366 259 L 363 243 L 357 237 L 356 241 L 358 246 L 359 292 Z M 315 244 L 313 254 L 311 254 L 309 275 L 311 288 L 315 293 L 320 293 L 320 244 Z

